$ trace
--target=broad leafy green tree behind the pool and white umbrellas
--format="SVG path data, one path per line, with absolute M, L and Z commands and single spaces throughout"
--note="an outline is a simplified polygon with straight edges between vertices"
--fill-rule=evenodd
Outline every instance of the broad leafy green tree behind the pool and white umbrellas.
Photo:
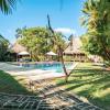
M 16 36 L 19 36 L 18 42 L 28 48 L 34 61 L 43 61 L 48 51 L 57 53 L 57 46 L 51 42 L 52 37 L 50 37 L 47 28 L 19 29 L 16 30 Z M 65 45 L 61 34 L 57 34 L 57 37 Z

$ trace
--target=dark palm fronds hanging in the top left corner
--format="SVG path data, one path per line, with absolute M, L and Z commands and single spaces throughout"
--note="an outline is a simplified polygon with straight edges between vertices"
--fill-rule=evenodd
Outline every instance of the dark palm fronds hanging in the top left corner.
M 9 14 L 15 8 L 18 0 L 0 0 L 0 10 L 4 14 Z

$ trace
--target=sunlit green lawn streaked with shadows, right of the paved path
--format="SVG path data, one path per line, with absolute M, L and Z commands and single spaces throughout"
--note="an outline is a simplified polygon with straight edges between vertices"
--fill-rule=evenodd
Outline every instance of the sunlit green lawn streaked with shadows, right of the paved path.
M 86 97 L 91 103 L 110 110 L 110 72 L 89 63 L 79 64 L 73 70 L 67 84 L 59 79 L 57 86 L 66 86 L 67 91 Z

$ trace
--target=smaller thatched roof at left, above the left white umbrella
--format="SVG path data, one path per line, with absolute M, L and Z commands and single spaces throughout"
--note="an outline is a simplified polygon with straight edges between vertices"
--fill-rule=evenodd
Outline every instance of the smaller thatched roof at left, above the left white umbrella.
M 21 53 L 21 52 L 26 51 L 26 47 L 20 45 L 19 43 L 14 43 L 14 44 L 12 45 L 11 50 L 12 50 L 14 53 Z

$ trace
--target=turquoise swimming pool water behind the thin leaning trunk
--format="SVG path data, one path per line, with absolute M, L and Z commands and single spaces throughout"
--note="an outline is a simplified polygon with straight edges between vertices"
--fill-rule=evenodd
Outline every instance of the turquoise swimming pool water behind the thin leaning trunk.
M 20 65 L 19 65 L 20 66 Z M 73 63 L 65 63 L 67 69 L 73 66 Z M 55 70 L 56 73 L 64 73 L 62 63 L 35 63 L 35 64 L 22 64 L 22 67 L 42 69 L 42 70 Z

